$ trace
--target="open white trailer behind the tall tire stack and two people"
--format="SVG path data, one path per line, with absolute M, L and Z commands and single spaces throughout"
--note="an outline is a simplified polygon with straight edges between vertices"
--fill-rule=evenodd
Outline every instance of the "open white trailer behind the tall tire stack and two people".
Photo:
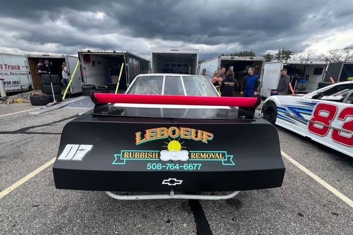
M 48 59 L 49 62 L 51 62 L 51 70 L 50 74 L 54 75 L 59 75 L 60 78 L 62 78 L 62 73 L 61 73 L 61 66 L 62 63 L 65 62 L 69 73 L 72 75 L 72 73 L 75 70 L 75 66 L 78 61 L 78 57 L 76 56 L 71 56 L 71 55 L 54 55 L 54 54 L 25 54 L 29 70 L 32 74 L 33 78 L 33 84 L 34 84 L 34 89 L 35 90 L 40 90 L 41 89 L 41 83 L 39 81 L 38 73 L 36 70 L 36 67 L 38 65 L 39 60 L 46 60 Z M 80 76 L 79 71 L 76 71 L 75 77 L 73 82 L 71 83 L 70 86 L 70 93 L 71 94 L 76 94 L 76 93 L 81 93 L 82 92 L 82 78 Z

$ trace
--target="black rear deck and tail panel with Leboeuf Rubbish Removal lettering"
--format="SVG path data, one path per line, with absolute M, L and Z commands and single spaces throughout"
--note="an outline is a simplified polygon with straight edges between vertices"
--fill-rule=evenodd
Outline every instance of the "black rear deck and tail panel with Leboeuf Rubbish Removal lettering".
M 276 128 L 237 109 L 113 107 L 67 123 L 56 188 L 235 191 L 280 187 Z

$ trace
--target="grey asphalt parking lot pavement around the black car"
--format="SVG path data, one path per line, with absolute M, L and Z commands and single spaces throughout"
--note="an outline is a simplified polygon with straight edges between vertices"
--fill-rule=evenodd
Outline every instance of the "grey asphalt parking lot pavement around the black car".
M 338 196 L 353 200 L 353 158 L 281 127 L 281 151 L 341 194 L 285 156 L 282 187 L 228 200 L 119 201 L 56 189 L 50 161 L 64 125 L 89 109 L 83 106 L 30 114 L 38 107 L 0 104 L 0 235 L 353 234 L 353 207 Z

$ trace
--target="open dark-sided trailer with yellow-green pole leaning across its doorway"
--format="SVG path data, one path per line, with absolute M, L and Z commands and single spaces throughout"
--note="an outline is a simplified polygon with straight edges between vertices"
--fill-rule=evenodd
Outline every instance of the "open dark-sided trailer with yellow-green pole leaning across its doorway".
M 128 51 L 81 50 L 78 58 L 84 85 L 116 83 L 124 63 L 119 89 L 126 89 L 138 74 L 148 73 L 150 68 L 149 60 Z

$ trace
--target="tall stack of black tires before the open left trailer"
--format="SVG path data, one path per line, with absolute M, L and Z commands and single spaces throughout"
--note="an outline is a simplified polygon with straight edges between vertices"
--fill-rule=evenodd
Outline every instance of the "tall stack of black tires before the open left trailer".
M 49 96 L 50 102 L 54 101 L 50 82 L 52 83 L 56 102 L 61 102 L 63 95 L 61 94 L 61 80 L 58 75 L 42 75 L 43 93 Z

